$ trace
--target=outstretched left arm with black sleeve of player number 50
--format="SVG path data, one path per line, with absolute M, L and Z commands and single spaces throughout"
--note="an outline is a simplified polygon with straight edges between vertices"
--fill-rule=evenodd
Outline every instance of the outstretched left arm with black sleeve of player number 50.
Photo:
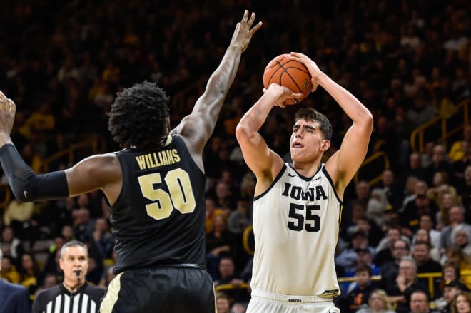
M 0 161 L 16 199 L 30 202 L 81 195 L 121 179 L 118 160 L 111 153 L 93 155 L 69 170 L 34 173 L 10 138 L 15 113 L 14 101 L 0 91 Z

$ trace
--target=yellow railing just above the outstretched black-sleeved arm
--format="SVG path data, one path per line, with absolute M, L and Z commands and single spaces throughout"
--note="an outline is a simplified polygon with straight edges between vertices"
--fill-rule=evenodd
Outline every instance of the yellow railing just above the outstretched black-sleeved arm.
M 74 143 L 69 148 L 61 150 L 50 157 L 41 160 L 41 173 L 48 172 L 51 162 L 64 156 L 67 156 L 69 165 L 73 165 L 77 161 L 75 153 L 77 150 L 81 149 L 88 149 L 88 155 L 103 153 L 103 151 L 106 150 L 106 143 L 103 137 L 99 135 L 90 135 L 90 138 L 82 140 L 79 143 Z

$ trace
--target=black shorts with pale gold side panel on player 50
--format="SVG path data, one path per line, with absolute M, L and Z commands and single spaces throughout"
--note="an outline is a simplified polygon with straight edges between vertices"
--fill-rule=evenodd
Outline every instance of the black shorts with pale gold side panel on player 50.
M 109 284 L 100 313 L 214 313 L 211 275 L 188 267 L 126 270 Z

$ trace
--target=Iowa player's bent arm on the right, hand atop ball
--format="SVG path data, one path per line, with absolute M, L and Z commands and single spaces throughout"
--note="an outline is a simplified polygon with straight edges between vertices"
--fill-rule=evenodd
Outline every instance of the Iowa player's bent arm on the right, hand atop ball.
M 323 87 L 353 120 L 353 124 L 345 133 L 340 149 L 325 163 L 325 168 L 333 179 L 335 189 L 343 193 L 346 185 L 365 159 L 373 131 L 373 116 L 353 94 L 320 71 L 308 56 L 292 52 L 291 57 L 304 63 L 308 68 L 313 79 L 313 90 L 318 86 Z

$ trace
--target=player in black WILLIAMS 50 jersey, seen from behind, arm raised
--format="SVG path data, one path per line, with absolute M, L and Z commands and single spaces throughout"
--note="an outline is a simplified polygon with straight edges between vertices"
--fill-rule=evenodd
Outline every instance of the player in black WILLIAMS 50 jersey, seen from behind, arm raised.
M 0 93 L 0 161 L 21 201 L 75 197 L 101 189 L 111 204 L 116 278 L 106 312 L 215 312 L 205 264 L 203 148 L 240 56 L 261 22 L 245 11 L 231 44 L 190 115 L 171 130 L 166 93 L 140 83 L 118 93 L 108 128 L 124 149 L 92 155 L 74 167 L 37 175 L 11 142 L 16 106 Z

